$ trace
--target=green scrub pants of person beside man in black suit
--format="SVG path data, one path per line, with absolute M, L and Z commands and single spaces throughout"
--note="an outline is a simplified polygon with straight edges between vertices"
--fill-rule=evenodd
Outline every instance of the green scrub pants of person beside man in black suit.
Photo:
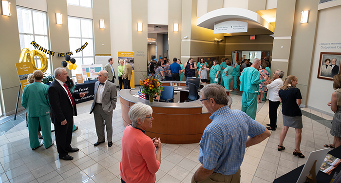
M 44 138 L 45 148 L 50 147 L 52 144 L 51 138 L 51 118 L 50 115 L 44 115 L 39 117 L 27 117 L 28 118 L 28 135 L 30 139 L 31 148 L 38 147 L 40 142 L 38 141 L 38 124 L 40 122 L 41 133 Z

